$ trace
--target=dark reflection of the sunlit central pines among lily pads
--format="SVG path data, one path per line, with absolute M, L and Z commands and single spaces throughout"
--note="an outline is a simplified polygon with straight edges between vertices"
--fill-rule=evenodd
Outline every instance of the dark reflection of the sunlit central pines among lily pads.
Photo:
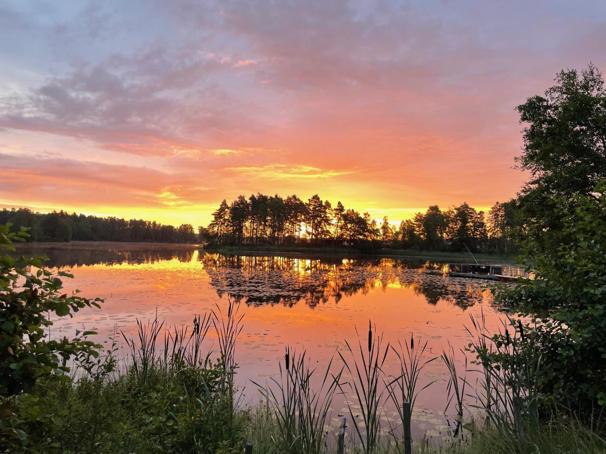
M 445 300 L 463 309 L 483 297 L 481 281 L 447 278 L 444 263 L 421 259 L 204 254 L 202 263 L 219 296 L 227 293 L 247 304 L 303 301 L 314 308 L 388 286 L 411 288 L 430 304 Z

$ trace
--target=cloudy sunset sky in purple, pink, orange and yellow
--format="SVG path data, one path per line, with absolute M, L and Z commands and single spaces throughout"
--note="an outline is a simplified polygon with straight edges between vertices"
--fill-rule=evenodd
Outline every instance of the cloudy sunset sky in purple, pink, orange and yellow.
M 527 176 L 514 108 L 606 69 L 603 1 L 0 1 L 0 208 L 206 225 L 313 194 L 392 222 Z

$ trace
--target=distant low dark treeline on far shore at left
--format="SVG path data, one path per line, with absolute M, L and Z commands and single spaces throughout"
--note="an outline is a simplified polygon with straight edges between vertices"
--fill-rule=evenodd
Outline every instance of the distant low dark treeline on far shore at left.
M 12 223 L 14 231 L 18 231 L 21 226 L 29 227 L 29 241 L 195 243 L 198 240 L 191 224 L 175 227 L 142 219 L 126 220 L 118 217 L 70 214 L 65 211 L 39 213 L 27 208 L 4 208 L 0 211 L 0 224 L 7 222 Z

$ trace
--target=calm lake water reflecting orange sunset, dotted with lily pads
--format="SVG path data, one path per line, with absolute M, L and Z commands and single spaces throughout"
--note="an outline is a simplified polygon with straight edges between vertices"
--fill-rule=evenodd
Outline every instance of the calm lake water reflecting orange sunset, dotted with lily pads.
M 503 317 L 492 305 L 487 281 L 447 277 L 441 271 L 445 262 L 435 258 L 224 255 L 190 246 L 121 243 L 19 248 L 24 254 L 42 251 L 50 258 L 48 266 L 75 274 L 65 288 L 105 299 L 100 311 L 87 309 L 58 321 L 53 335 L 71 336 L 82 327 L 95 327 L 104 338 L 116 328 L 134 333 L 136 318 L 153 319 L 156 314 L 169 326 L 181 325 L 215 304 L 226 306 L 228 298 L 239 301 L 245 326 L 236 347 L 238 383 L 250 401 L 258 396 L 250 380 L 265 383 L 278 377 L 287 344 L 306 350 L 323 373 L 345 340 L 357 342 L 355 327 L 362 343 L 367 342 L 370 319 L 384 333 L 384 344 L 408 341 L 411 334 L 428 340 L 428 357 L 438 356 L 450 342 L 462 375 L 460 349 L 469 342 L 465 326 L 471 325 L 470 316 L 483 313 L 487 326 L 495 328 Z M 388 357 L 385 374 L 395 373 L 395 367 Z M 426 371 L 424 383 L 438 382 L 419 395 L 415 430 L 439 436 L 454 408 L 444 413 L 447 376 L 441 361 L 433 361 Z M 469 372 L 470 383 L 473 377 Z M 347 415 L 344 405 L 340 396 L 334 418 Z M 391 410 L 385 404 L 385 420 L 393 416 Z

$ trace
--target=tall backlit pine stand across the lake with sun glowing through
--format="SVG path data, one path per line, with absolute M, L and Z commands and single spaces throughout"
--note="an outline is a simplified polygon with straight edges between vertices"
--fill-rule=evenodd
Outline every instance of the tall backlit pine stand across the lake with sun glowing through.
M 438 205 L 418 212 L 413 219 L 393 225 L 367 212 L 333 206 L 316 194 L 304 202 L 293 195 L 256 194 L 227 203 L 213 212 L 201 237 L 221 245 L 322 245 L 433 251 L 509 252 L 516 232 L 516 201 L 496 202 L 485 214 L 467 203 L 442 210 Z

